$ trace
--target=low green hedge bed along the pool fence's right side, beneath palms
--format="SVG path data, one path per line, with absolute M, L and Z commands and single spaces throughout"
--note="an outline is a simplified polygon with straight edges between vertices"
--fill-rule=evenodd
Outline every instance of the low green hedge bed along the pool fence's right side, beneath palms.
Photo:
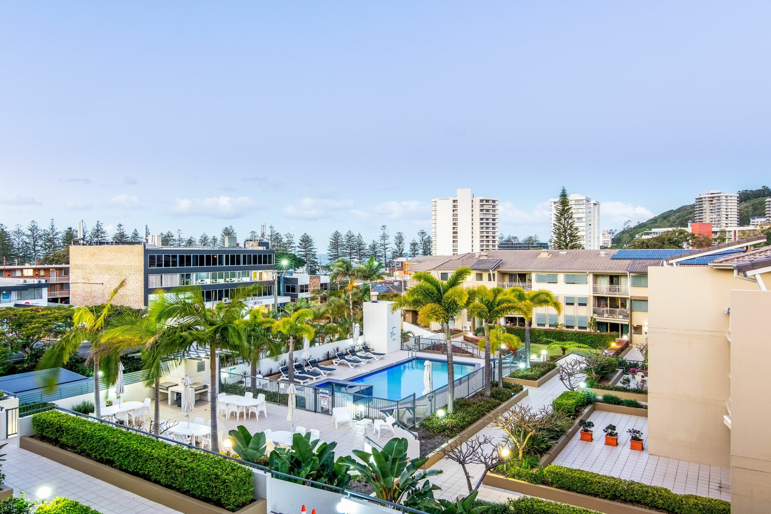
M 426 416 L 420 427 L 431 435 L 444 435 L 447 438 L 455 437 L 466 428 L 473 425 L 474 422 L 495 410 L 504 401 L 509 400 L 513 395 L 521 392 L 524 388 L 519 384 L 503 383 L 503 388 L 497 387 L 497 382 L 493 382 L 493 388 L 490 390 L 490 398 L 481 398 L 479 392 L 472 398 L 456 398 L 453 401 L 453 413 L 446 413 L 443 418 L 439 418 L 434 412 Z

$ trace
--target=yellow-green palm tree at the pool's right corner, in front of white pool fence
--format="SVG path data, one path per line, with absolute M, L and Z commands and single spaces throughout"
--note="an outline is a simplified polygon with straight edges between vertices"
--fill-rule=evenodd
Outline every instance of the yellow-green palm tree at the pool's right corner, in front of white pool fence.
M 463 287 L 463 281 L 471 274 L 469 267 L 459 267 L 446 281 L 432 274 L 419 272 L 412 276 L 418 283 L 405 294 L 399 294 L 392 306 L 396 309 L 407 307 L 418 311 L 418 322 L 439 323 L 444 329 L 447 347 L 447 412 L 453 412 L 455 401 L 455 372 L 453 370 L 453 341 L 449 335 L 449 322 L 473 301 L 475 291 Z

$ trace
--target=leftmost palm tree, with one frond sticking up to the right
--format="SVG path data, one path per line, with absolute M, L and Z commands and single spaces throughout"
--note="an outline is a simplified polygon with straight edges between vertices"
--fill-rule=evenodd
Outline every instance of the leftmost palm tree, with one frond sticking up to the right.
M 91 348 L 89 350 L 89 359 L 94 363 L 94 413 L 96 417 L 101 417 L 102 409 L 99 403 L 99 364 L 104 356 L 106 364 L 107 381 L 111 381 L 115 378 L 118 371 L 118 361 L 120 360 L 120 354 L 105 354 L 99 351 L 99 336 L 104 329 L 105 321 L 109 316 L 110 308 L 113 306 L 113 298 L 118 294 L 118 291 L 126 285 L 126 279 L 120 281 L 120 284 L 113 289 L 109 294 L 106 303 L 102 307 L 101 313 L 99 313 L 99 307 L 78 307 L 72 314 L 72 329 L 62 336 L 59 341 L 49 346 L 48 350 L 43 354 L 40 359 L 38 369 L 48 368 L 61 368 L 69 361 L 72 354 L 76 354 L 80 345 L 83 343 L 89 343 Z M 56 385 L 56 375 L 49 377 L 49 387 Z

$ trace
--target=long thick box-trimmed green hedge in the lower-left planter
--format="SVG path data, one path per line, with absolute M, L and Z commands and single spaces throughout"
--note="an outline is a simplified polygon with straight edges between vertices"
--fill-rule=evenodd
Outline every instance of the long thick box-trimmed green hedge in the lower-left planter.
M 40 440 L 112 468 L 236 511 L 251 502 L 251 469 L 149 435 L 129 432 L 59 411 L 32 416 Z

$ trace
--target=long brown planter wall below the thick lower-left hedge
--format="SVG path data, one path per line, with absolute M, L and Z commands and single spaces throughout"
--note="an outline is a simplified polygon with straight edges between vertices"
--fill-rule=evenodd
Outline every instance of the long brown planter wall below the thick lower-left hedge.
M 59 462 L 59 464 L 66 465 L 72 469 L 77 469 L 79 472 L 93 476 L 95 479 L 103 480 L 116 487 L 120 487 L 120 489 L 133 492 L 143 498 L 160 503 L 170 509 L 184 512 L 185 514 L 232 514 L 232 512 L 221 507 L 201 502 L 198 499 L 183 495 L 181 492 L 167 489 L 163 485 L 153 484 L 153 482 L 118 471 L 107 465 L 86 459 L 86 457 L 72 452 L 67 452 L 62 450 L 62 448 L 56 448 L 56 446 L 38 441 L 37 439 L 29 437 L 19 438 L 19 448 L 42 455 L 46 459 Z M 267 514 L 267 502 L 264 499 L 258 499 L 237 510 L 236 514 Z

